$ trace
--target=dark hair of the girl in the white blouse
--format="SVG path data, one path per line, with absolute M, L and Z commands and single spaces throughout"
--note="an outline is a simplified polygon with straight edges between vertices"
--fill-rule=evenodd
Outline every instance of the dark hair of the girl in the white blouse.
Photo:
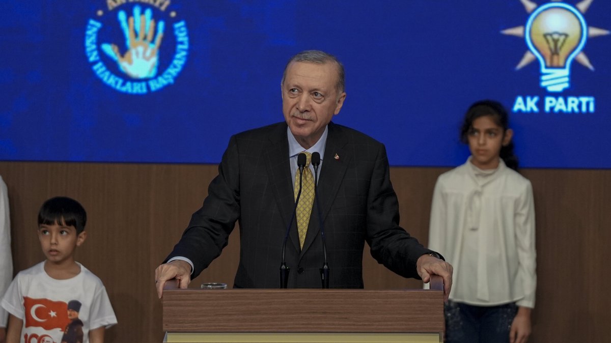
M 498 101 L 481 100 L 472 104 L 464 115 L 463 126 L 460 130 L 461 142 L 465 144 L 469 143 L 468 136 L 473 126 L 473 122 L 477 118 L 485 117 L 486 115 L 492 117 L 494 122 L 503 128 L 503 136 L 505 135 L 505 131 L 509 128 L 509 115 L 505 107 Z M 516 171 L 518 170 L 518 156 L 513 153 L 513 141 L 509 142 L 506 146 L 501 146 L 500 158 L 503 159 L 507 167 Z

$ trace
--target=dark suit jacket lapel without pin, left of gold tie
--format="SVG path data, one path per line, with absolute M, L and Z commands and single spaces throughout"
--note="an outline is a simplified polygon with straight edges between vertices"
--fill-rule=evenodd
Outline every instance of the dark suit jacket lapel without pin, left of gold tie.
M 269 186 L 271 187 L 282 222 L 284 226 L 282 232 L 287 229 L 288 222 L 291 220 L 293 208 L 295 207 L 295 195 L 293 195 L 293 181 L 291 180 L 291 167 L 288 159 L 288 139 L 287 125 L 278 125 L 269 135 L 269 148 L 265 152 L 267 162 Z M 293 247 L 299 251 L 299 235 L 297 233 L 296 222 L 290 229 L 290 240 Z

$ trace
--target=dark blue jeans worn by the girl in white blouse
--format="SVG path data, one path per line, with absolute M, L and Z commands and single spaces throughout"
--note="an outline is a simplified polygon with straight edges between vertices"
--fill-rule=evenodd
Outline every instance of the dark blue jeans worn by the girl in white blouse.
M 444 305 L 445 342 L 508 343 L 511 323 L 517 313 L 515 303 L 473 306 L 448 301 Z

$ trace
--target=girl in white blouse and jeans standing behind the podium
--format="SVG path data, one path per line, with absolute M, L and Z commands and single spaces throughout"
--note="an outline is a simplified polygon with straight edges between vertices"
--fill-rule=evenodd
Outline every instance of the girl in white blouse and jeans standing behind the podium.
M 500 103 L 472 104 L 461 129 L 471 156 L 435 185 L 429 248 L 454 267 L 445 304 L 449 343 L 524 343 L 530 335 L 535 209 L 507 123 Z

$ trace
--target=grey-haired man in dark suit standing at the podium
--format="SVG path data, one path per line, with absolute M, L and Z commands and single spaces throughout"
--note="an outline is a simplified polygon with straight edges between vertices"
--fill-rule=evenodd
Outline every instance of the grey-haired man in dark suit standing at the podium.
M 155 270 L 159 297 L 167 280 L 177 278 L 186 288 L 191 277 L 208 267 L 227 245 L 236 221 L 240 264 L 235 287 L 279 287 L 282 245 L 299 183 L 297 155 L 316 151 L 321 155 L 320 203 L 313 202 L 305 234 L 299 237 L 295 221 L 290 228 L 288 287 L 321 287 L 322 222 L 330 287 L 363 287 L 366 241 L 371 255 L 401 276 L 428 282 L 431 274 L 441 275 L 447 298 L 452 266 L 398 225 L 384 145 L 331 122 L 346 98 L 342 64 L 322 51 L 300 52 L 287 63 L 281 86 L 285 121 L 230 139 L 202 208 Z

